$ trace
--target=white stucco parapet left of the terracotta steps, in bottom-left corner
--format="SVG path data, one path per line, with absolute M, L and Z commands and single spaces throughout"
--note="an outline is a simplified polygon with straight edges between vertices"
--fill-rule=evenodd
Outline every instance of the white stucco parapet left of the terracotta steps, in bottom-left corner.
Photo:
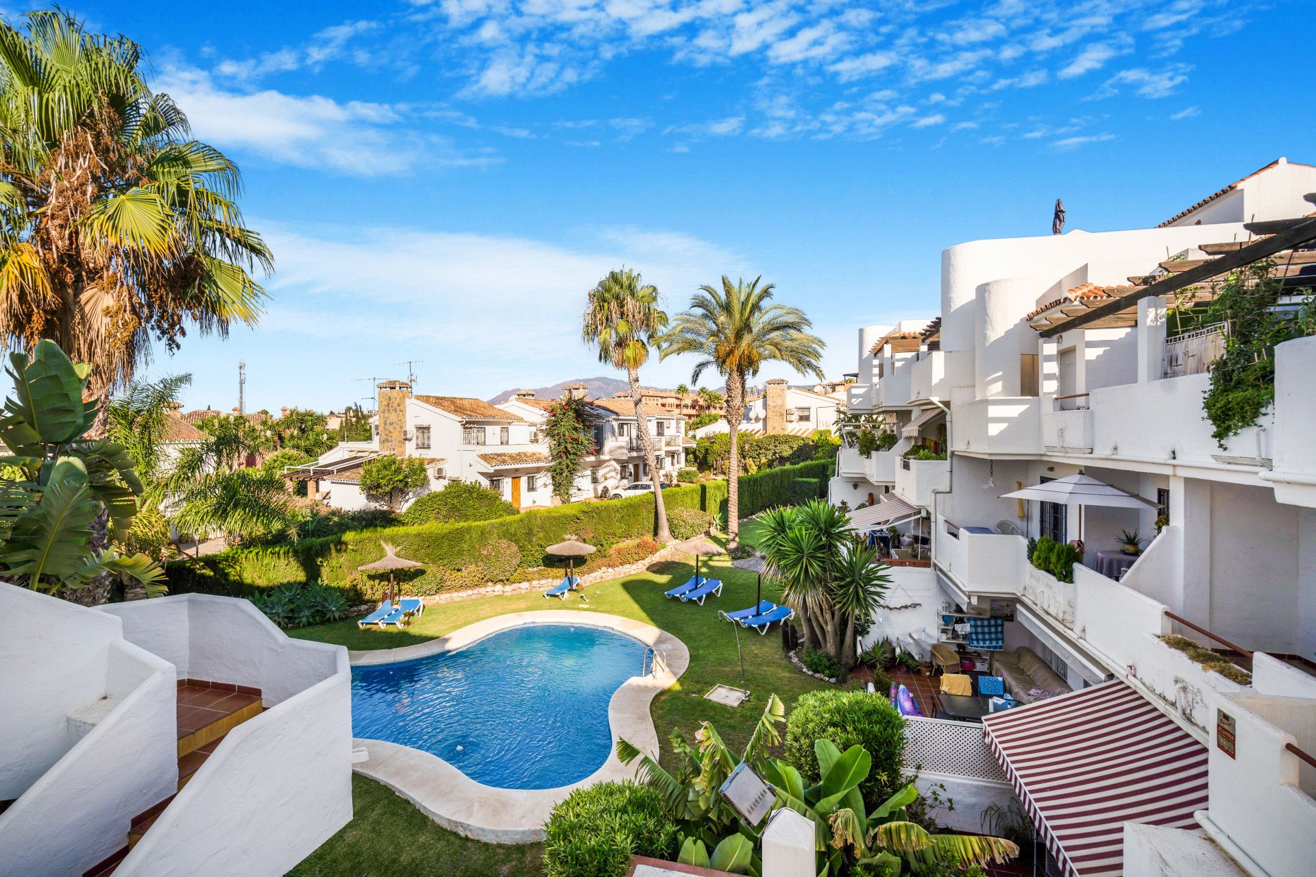
M 0 814 L 4 873 L 80 874 L 128 843 L 133 817 L 174 794 L 174 668 L 121 639 L 105 656 L 97 678 L 116 705 Z M 49 669 L 46 676 L 54 675 Z

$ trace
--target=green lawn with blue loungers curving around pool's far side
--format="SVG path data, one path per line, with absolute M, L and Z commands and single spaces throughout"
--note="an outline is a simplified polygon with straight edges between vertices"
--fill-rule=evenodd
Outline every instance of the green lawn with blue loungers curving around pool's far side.
M 587 586 L 588 604 L 580 600 L 579 593 L 572 593 L 562 602 L 545 600 L 542 594 L 532 592 L 429 606 L 403 631 L 358 630 L 354 621 L 346 621 L 303 627 L 288 634 L 366 650 L 420 643 L 483 618 L 533 609 L 580 609 L 644 621 L 679 636 L 690 648 L 690 668 L 674 688 L 658 694 L 653 703 L 654 726 L 663 746 L 662 760 L 671 765 L 667 739 L 672 730 L 680 728 L 687 738 L 692 738 L 699 723 L 707 719 L 717 726 L 732 748 L 738 748 L 749 740 L 769 694 L 775 693 L 790 709 L 800 694 L 825 686 L 800 673 L 786 660 L 776 627 L 763 636 L 740 630 L 745 657 L 744 688 L 750 690 L 750 699 L 734 709 L 703 699 L 704 693 L 719 682 L 741 686 L 737 631 L 717 618 L 717 610 L 754 605 L 757 579 L 751 572 L 732 567 L 725 556 L 705 559 L 703 565 L 725 582 L 722 596 L 703 606 L 663 597 L 663 590 L 686 581 L 694 572 L 691 564 L 667 563 L 661 573 L 645 572 Z M 775 600 L 778 594 L 778 589 L 763 582 L 765 600 Z

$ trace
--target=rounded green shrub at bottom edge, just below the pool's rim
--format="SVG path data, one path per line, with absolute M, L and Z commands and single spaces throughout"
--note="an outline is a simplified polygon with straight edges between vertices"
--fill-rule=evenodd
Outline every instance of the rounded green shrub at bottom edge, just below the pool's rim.
M 629 780 L 576 789 L 553 807 L 544 835 L 549 877 L 624 877 L 632 856 L 676 853 L 662 797 Z

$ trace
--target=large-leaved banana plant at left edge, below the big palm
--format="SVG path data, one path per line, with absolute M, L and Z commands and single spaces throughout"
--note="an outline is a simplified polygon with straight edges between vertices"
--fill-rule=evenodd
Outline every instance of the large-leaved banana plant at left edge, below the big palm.
M 0 468 L 17 477 L 0 481 L 0 576 L 58 594 L 111 573 L 164 593 L 164 572 L 146 555 L 91 544 L 103 511 L 116 538 L 128 533 L 142 492 L 122 447 L 87 438 L 99 405 L 83 401 L 91 367 L 41 341 L 32 356 L 11 354 L 7 371 L 14 393 L 0 408 Z

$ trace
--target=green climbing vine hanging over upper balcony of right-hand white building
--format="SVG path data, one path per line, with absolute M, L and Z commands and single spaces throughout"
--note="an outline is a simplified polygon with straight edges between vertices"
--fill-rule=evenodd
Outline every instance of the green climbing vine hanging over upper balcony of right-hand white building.
M 1316 334 L 1311 289 L 1284 291 L 1271 276 L 1275 263 L 1257 262 L 1228 275 L 1205 304 L 1191 305 L 1184 291 L 1171 317 L 1179 331 L 1227 323 L 1225 352 L 1211 366 L 1202 406 L 1212 438 L 1225 440 L 1253 426 L 1275 401 L 1275 344 Z M 1190 302 L 1190 304 L 1183 304 Z

